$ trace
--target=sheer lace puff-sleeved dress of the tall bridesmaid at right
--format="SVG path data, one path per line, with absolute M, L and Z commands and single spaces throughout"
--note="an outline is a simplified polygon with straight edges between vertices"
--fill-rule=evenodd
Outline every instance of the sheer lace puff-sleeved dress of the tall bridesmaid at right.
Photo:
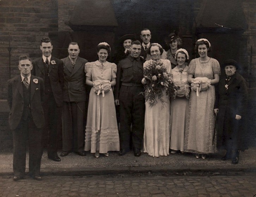
M 199 58 L 192 59 L 188 74 L 212 80 L 214 74 L 220 74 L 220 64 L 214 58 L 210 58 L 208 62 L 200 62 Z M 217 152 L 216 135 L 214 137 L 214 102 L 214 85 L 201 91 L 199 96 L 196 96 L 196 91 L 191 90 L 184 139 L 185 152 L 205 154 Z

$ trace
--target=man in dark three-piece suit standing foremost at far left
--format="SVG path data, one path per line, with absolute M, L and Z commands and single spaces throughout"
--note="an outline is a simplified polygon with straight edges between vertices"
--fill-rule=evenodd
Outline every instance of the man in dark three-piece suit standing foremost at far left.
M 41 137 L 44 126 L 43 79 L 31 75 L 33 65 L 26 56 L 19 57 L 20 75 L 8 80 L 9 125 L 13 134 L 13 180 L 22 179 L 26 168 L 26 144 L 29 141 L 29 174 L 40 176 Z

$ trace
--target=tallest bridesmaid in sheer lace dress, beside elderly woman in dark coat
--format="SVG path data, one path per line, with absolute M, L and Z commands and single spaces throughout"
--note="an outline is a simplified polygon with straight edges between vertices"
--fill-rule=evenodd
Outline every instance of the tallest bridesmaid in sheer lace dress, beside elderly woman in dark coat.
M 188 82 L 191 94 L 188 106 L 184 151 L 196 153 L 196 158 L 206 158 L 206 154 L 216 152 L 214 135 L 214 84 L 219 82 L 220 64 L 208 57 L 210 42 L 205 39 L 196 41 L 196 51 L 200 57 L 192 59 L 188 68 Z

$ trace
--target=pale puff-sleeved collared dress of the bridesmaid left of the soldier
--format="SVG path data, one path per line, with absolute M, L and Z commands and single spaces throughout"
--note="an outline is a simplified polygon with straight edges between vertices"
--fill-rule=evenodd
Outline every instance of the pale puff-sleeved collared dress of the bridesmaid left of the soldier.
M 111 81 L 116 78 L 116 71 L 116 64 L 110 62 L 85 64 L 86 77 L 91 77 L 91 81 Z M 120 150 L 113 91 L 108 91 L 104 97 L 97 95 L 93 87 L 90 91 L 84 150 L 91 150 L 91 153 Z

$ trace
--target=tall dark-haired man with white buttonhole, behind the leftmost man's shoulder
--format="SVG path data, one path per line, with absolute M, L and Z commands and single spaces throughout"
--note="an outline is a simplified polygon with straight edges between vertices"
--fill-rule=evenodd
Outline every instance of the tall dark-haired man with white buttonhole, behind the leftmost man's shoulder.
M 45 129 L 42 146 L 44 147 L 47 142 L 48 158 L 53 161 L 61 161 L 57 155 L 57 129 L 61 126 L 61 107 L 63 105 L 63 62 L 51 56 L 53 45 L 48 37 L 41 39 L 40 49 L 42 57 L 32 61 L 31 74 L 44 80 Z

